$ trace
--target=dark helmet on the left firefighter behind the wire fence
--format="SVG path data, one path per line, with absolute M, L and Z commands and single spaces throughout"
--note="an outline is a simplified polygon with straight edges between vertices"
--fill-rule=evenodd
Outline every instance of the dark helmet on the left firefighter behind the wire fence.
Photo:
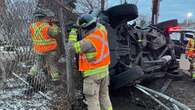
M 33 15 L 35 18 L 55 17 L 55 14 L 50 9 L 37 9 Z

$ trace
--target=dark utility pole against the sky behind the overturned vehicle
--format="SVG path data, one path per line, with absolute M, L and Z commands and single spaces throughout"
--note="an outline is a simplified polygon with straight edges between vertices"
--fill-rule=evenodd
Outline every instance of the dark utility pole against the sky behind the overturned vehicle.
M 158 23 L 160 0 L 152 0 L 152 24 Z

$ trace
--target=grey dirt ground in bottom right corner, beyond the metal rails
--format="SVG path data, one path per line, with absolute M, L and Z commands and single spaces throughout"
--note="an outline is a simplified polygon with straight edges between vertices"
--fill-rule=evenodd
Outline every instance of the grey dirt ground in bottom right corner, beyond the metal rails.
M 186 73 L 186 71 L 184 71 Z M 189 72 L 187 72 L 189 74 Z M 164 83 L 167 82 L 169 78 L 160 79 L 154 81 L 150 88 L 153 88 L 157 91 L 161 91 Z M 195 82 L 191 80 L 191 78 L 184 74 L 183 78 L 172 80 L 170 85 L 164 94 L 171 96 L 172 98 L 180 101 L 181 103 L 186 104 L 192 110 L 195 110 Z

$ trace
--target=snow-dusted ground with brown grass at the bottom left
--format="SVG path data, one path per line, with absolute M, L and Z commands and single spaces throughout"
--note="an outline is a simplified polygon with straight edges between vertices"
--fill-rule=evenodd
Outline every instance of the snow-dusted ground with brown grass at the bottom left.
M 24 94 L 29 87 L 21 81 L 10 78 L 6 81 L 6 85 L 0 89 L 0 110 L 67 110 L 70 108 L 68 97 L 62 85 L 48 87 L 45 95 L 52 100 L 49 101 L 39 93 L 32 96 Z

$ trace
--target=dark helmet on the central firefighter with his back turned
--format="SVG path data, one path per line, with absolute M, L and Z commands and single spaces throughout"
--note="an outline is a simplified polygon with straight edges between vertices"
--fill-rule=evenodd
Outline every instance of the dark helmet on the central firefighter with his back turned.
M 91 30 L 96 27 L 97 20 L 96 17 L 93 17 L 90 14 L 84 14 L 77 19 L 77 25 L 82 29 Z

